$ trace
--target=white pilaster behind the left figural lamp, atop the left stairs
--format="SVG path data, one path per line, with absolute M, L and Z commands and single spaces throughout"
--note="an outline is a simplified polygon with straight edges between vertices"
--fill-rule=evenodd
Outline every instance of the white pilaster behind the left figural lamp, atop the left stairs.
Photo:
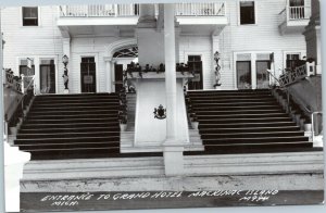
M 68 58 L 68 63 L 67 63 L 67 65 L 66 65 L 66 68 L 67 68 L 67 75 L 68 75 L 68 90 L 71 90 L 72 89 L 72 80 L 71 80 L 71 73 L 72 73 L 72 70 L 71 70 L 71 64 L 72 64 L 72 59 L 71 59 L 71 38 L 63 38 L 62 39 L 62 49 L 63 49 L 63 54 L 62 54 L 62 57 L 63 55 L 67 55 L 67 58 Z M 62 58 L 61 59 L 59 59 L 59 61 L 60 60 L 62 60 Z M 65 90 L 64 90 L 64 79 L 63 79 L 63 74 L 64 74 L 64 65 L 63 65 L 63 63 L 62 63 L 62 61 L 61 61 L 61 66 L 59 66 L 59 67 L 62 67 L 62 68 L 60 68 L 59 70 L 59 79 L 61 79 L 60 80 L 60 83 L 61 84 L 59 84 L 60 86 L 59 86 L 59 92 L 60 93 L 63 93 Z M 68 90 L 67 90 L 67 92 L 68 92 Z

